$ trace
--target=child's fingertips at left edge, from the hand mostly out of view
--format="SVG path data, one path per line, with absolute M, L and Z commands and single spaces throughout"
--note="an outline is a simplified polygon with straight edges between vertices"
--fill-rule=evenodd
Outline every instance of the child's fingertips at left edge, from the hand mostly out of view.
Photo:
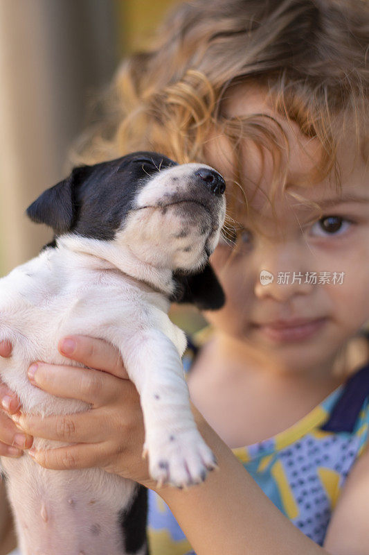
M 0 357 L 8 358 L 12 353 L 9 341 L 0 341 Z M 19 409 L 19 399 L 8 386 L 0 382 L 0 400 L 3 411 L 9 414 Z M 21 456 L 24 449 L 29 449 L 33 437 L 22 434 L 12 422 L 10 416 L 0 411 L 0 456 Z

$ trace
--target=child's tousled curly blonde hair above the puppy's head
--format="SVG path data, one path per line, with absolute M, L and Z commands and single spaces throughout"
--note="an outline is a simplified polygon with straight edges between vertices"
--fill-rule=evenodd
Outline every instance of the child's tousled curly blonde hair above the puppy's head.
M 179 163 L 206 162 L 215 132 L 231 143 L 242 194 L 242 139 L 271 153 L 273 196 L 286 186 L 282 127 L 266 114 L 229 118 L 223 109 L 233 87 L 257 83 L 276 113 L 321 143 L 316 178 L 333 173 L 339 183 L 336 151 L 345 131 L 355 137 L 357 155 L 368 156 L 368 36 L 367 0 L 181 3 L 152 48 L 123 61 L 100 99 L 102 117 L 81 137 L 73 161 L 149 150 Z M 230 198 L 238 203 L 235 189 L 228 184 L 228 206 Z

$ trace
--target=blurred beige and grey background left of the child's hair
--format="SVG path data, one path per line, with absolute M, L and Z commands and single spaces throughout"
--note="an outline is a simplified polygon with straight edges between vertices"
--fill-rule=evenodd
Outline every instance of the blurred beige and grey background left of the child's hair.
M 127 53 L 141 49 L 174 0 L 1 0 L 0 275 L 51 232 L 24 215 L 66 176 L 88 107 Z

